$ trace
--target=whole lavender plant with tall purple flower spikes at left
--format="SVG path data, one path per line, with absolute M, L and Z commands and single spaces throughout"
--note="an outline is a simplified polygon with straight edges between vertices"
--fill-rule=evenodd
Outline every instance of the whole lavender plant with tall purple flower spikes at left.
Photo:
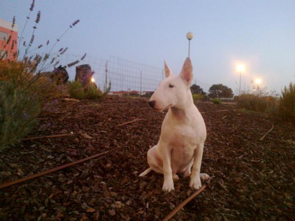
M 17 45 L 17 42 L 11 40 L 11 35 L 9 35 L 3 43 L 6 53 L 0 55 L 0 150 L 16 144 L 26 136 L 35 125 L 42 107 L 46 106 L 48 101 L 59 96 L 59 89 L 62 88 L 62 85 L 57 85 L 53 79 L 40 75 L 40 73 L 49 68 L 55 69 L 60 63 L 59 57 L 68 48 L 61 48 L 54 53 L 55 47 L 65 33 L 80 21 L 73 22 L 51 47 L 50 41 L 47 40 L 44 45 L 46 45 L 46 51 L 48 47 L 50 47 L 50 50 L 44 55 L 38 53 L 30 55 L 43 47 L 43 44 L 41 44 L 33 48 L 36 30 L 41 19 L 40 11 L 36 13 L 29 41 L 26 41 L 23 37 L 34 11 L 34 3 L 35 1 L 32 0 L 26 23 L 19 37 L 17 53 L 13 54 L 12 59 L 7 57 L 7 52 L 11 52 Z M 14 26 L 15 17 L 13 17 L 11 32 Z M 83 59 L 85 56 L 83 56 Z M 69 67 L 79 61 L 76 60 L 63 66 Z

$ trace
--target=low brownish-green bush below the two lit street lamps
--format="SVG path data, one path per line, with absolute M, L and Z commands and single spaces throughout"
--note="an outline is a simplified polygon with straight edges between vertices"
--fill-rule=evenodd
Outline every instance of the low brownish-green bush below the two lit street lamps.
M 259 96 L 258 94 L 241 94 L 236 102 L 237 108 L 249 111 L 275 113 L 277 111 L 277 99 L 271 96 Z

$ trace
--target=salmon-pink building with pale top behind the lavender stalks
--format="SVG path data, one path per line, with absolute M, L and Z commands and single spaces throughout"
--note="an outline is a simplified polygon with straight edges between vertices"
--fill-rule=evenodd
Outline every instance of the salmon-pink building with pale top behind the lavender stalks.
M 17 59 L 17 25 L 15 24 L 11 30 L 12 23 L 0 19 L 0 57 L 4 55 L 4 59 Z M 9 43 L 6 41 L 9 39 Z

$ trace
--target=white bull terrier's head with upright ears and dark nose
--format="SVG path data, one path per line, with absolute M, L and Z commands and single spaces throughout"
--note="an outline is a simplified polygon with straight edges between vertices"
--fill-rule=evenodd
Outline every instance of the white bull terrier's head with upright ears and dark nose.
M 179 75 L 174 76 L 170 68 L 164 62 L 166 78 L 159 84 L 156 91 L 149 99 L 149 106 L 156 111 L 176 107 L 181 109 L 188 96 L 191 96 L 190 84 L 193 79 L 193 67 L 189 57 L 182 66 Z

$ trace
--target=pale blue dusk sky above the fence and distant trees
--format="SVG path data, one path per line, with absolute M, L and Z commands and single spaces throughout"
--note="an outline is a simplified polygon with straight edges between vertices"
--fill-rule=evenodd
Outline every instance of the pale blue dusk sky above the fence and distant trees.
M 30 3 L 0 0 L 0 18 L 11 21 L 15 15 L 20 32 Z M 58 48 L 159 68 L 165 59 L 178 74 L 191 31 L 194 79 L 206 91 L 213 83 L 236 91 L 237 62 L 246 66 L 242 84 L 259 77 L 262 86 L 280 92 L 295 82 L 295 0 L 36 0 L 32 21 L 38 10 L 35 45 L 54 41 L 80 19 Z M 25 37 L 30 33 L 29 27 Z

